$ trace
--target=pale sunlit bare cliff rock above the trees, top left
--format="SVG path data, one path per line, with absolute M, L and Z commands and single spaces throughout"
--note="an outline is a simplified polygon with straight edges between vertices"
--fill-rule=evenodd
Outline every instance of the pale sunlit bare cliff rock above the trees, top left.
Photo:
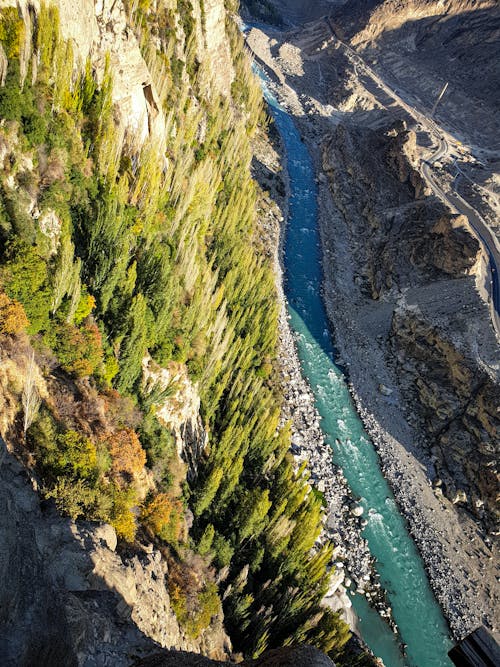
M 103 81 L 106 68 L 112 72 L 116 120 L 126 140 L 135 146 L 140 146 L 149 136 L 163 142 L 166 128 L 161 91 L 140 48 L 140 25 L 134 29 L 124 3 L 121 0 L 58 0 L 52 4 L 59 10 L 62 37 L 74 48 L 75 64 L 82 67 L 89 60 L 99 82 Z M 24 52 L 29 58 L 39 0 L 2 0 L 0 7 L 16 7 L 25 19 Z M 224 1 L 194 0 L 181 11 L 178 11 L 177 0 L 155 1 L 149 7 L 151 14 L 166 17 L 169 29 L 179 35 L 179 45 L 186 39 L 182 21 L 190 10 L 196 35 L 196 58 L 206 68 L 208 82 L 227 95 L 234 73 L 225 31 Z M 156 37 L 161 41 L 160 29 Z M 187 57 L 182 47 L 178 47 L 178 57 Z M 26 70 L 28 65 L 26 60 L 23 68 Z

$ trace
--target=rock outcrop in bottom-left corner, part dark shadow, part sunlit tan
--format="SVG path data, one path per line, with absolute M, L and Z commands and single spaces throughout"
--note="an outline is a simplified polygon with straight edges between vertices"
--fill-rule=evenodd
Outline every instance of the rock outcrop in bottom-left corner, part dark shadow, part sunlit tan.
M 221 618 L 196 640 L 181 630 L 160 552 L 151 546 L 125 559 L 111 526 L 75 524 L 41 507 L 25 468 L 0 446 L 2 665 L 119 667 L 162 646 L 229 655 Z

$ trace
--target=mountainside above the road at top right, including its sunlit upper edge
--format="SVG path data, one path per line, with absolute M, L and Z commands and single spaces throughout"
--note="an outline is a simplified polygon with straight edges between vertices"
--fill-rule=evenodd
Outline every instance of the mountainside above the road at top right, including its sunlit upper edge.
M 342 37 L 484 148 L 498 145 L 500 10 L 493 0 L 365 0 L 333 8 Z

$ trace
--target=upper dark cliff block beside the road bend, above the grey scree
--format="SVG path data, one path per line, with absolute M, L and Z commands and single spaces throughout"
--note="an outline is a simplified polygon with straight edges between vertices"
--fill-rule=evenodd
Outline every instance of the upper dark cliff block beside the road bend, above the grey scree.
M 463 216 L 426 196 L 415 168 L 415 134 L 404 124 L 385 134 L 339 125 L 323 169 L 353 236 L 363 239 L 356 246 L 359 280 L 373 298 L 393 287 L 475 273 L 479 244 Z

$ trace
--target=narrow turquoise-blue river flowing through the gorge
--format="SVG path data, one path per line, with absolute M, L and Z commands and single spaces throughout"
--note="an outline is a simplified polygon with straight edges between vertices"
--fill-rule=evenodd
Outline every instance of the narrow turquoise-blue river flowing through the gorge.
M 359 630 L 386 667 L 450 667 L 447 652 L 452 644 L 447 624 L 345 378 L 333 362 L 334 349 L 321 298 L 317 187 L 311 157 L 292 118 L 266 86 L 265 75 L 259 75 L 288 159 L 291 197 L 285 239 L 285 294 L 302 372 L 314 393 L 334 460 L 344 471 L 352 492 L 361 498 L 368 521 L 363 535 L 376 558 L 400 638 L 363 596 L 352 595 Z M 405 654 L 400 642 L 406 644 Z

